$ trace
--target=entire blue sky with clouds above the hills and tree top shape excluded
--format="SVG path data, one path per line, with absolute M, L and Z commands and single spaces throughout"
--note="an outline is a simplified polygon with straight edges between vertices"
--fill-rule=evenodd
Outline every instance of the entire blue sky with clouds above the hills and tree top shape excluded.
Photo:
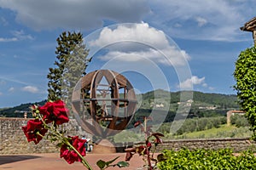
M 253 46 L 240 27 L 255 8 L 253 0 L 0 0 L 0 108 L 46 99 L 62 31 L 81 31 L 95 51 L 87 72 L 120 71 L 137 93 L 236 94 L 237 56 Z

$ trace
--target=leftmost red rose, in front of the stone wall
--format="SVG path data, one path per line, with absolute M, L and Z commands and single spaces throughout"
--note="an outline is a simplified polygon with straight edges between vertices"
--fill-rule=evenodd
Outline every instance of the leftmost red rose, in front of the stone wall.
M 42 136 L 47 133 L 47 129 L 43 127 L 43 122 L 38 119 L 28 121 L 26 126 L 22 127 L 22 130 L 26 135 L 27 141 L 34 141 L 35 144 L 38 144 L 43 139 Z

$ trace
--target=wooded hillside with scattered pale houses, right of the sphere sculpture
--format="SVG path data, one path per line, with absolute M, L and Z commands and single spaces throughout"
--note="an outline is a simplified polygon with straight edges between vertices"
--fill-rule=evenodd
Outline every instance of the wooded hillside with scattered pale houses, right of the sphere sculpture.
M 183 99 L 181 99 L 181 94 Z M 207 94 L 196 91 L 183 91 L 183 92 L 167 92 L 165 90 L 155 90 L 142 94 L 143 101 L 141 108 L 148 109 L 154 105 L 171 105 L 171 111 L 176 111 L 177 105 L 180 102 L 187 102 L 190 100 L 192 108 L 205 108 L 206 110 L 230 110 L 239 109 L 237 98 L 235 94 Z M 212 108 L 211 108 L 212 107 Z

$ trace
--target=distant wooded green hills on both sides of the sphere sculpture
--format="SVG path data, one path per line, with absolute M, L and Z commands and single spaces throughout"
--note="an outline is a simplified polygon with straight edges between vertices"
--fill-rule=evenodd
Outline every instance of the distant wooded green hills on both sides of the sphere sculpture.
M 185 98 L 182 101 L 180 98 L 181 94 L 183 95 L 183 98 Z M 192 99 L 191 94 L 193 94 Z M 189 99 L 192 101 L 189 115 L 224 115 L 228 110 L 239 109 L 235 94 L 207 94 L 196 91 L 168 92 L 162 89 L 157 89 L 145 94 L 138 94 L 138 96 L 140 96 L 141 102 L 141 104 L 139 105 L 139 111 L 137 111 L 138 115 L 149 114 L 152 111 L 152 108 L 155 108 L 156 105 L 159 105 L 159 111 L 166 111 L 166 106 L 170 105 L 170 107 L 168 108 L 170 114 L 166 118 L 167 122 L 170 122 L 173 115 L 176 114 L 179 102 L 187 102 L 187 100 Z M 29 107 L 31 105 L 44 105 L 45 102 L 46 100 L 43 100 L 35 103 L 21 104 L 10 108 L 2 108 L 0 109 L 0 116 L 22 117 L 24 111 L 30 111 Z

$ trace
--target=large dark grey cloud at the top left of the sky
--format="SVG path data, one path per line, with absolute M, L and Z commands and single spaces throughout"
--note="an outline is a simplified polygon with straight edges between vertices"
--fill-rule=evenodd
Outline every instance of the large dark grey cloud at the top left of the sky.
M 15 11 L 17 21 L 35 30 L 98 28 L 104 20 L 138 22 L 149 13 L 146 0 L 0 0 L 0 7 Z

